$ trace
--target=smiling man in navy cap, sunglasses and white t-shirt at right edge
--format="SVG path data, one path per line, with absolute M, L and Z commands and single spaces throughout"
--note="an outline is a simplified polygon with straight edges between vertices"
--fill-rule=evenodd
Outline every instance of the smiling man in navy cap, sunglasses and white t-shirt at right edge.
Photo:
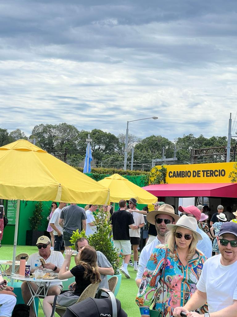
M 197 291 L 184 307 L 174 309 L 174 317 L 236 317 L 237 312 L 237 224 L 223 223 L 219 231 L 220 254 L 204 263 Z M 208 303 L 209 313 L 192 312 Z M 189 313 L 190 312 L 190 313 Z

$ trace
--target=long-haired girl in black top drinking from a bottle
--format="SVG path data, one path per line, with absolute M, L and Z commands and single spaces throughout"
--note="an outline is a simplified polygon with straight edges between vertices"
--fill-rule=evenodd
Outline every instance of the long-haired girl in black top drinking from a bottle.
M 75 276 L 76 281 L 75 290 L 66 291 L 62 294 L 59 294 L 57 297 L 56 305 L 64 307 L 75 304 L 78 300 L 78 297 L 80 297 L 84 289 L 90 284 L 99 283 L 101 281 L 98 266 L 96 264 L 96 251 L 89 245 L 82 248 L 78 257 L 77 265 L 71 270 L 67 271 L 67 267 L 70 267 L 72 252 L 73 251 L 71 250 L 67 251 L 62 268 L 58 273 L 58 278 L 60 280 Z M 46 317 L 50 317 L 52 314 L 54 297 L 55 296 L 46 296 L 43 301 Z M 60 314 L 61 311 L 57 310 L 57 313 Z M 63 311 L 63 314 L 64 313 L 65 311 Z

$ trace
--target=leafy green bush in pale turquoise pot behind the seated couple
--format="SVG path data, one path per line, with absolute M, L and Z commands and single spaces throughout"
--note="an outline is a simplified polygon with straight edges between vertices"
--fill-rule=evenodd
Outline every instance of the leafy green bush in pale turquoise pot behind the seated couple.
M 89 245 L 95 248 L 96 251 L 102 252 L 108 261 L 111 263 L 112 268 L 114 270 L 114 275 L 118 276 L 118 285 L 115 290 L 115 295 L 118 293 L 121 277 L 122 275 L 119 272 L 119 262 L 118 262 L 118 254 L 117 251 L 113 249 L 112 245 L 112 236 L 110 235 L 110 220 L 107 219 L 107 214 L 103 211 L 101 206 L 99 206 L 99 211 L 94 215 L 96 232 L 93 235 L 87 237 L 89 241 Z M 83 230 L 79 233 L 78 230 L 73 231 L 73 235 L 71 236 L 70 242 L 73 244 L 73 248 L 75 249 L 76 240 L 80 237 L 86 237 L 85 231 Z M 108 275 L 108 278 L 111 276 Z

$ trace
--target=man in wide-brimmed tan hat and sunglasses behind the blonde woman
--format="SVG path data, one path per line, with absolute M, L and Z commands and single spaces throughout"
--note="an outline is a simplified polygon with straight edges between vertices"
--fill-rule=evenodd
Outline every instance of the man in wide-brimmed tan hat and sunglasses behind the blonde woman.
M 146 244 L 142 249 L 139 258 L 138 272 L 135 279 L 137 287 L 139 287 L 144 269 L 146 268 L 147 262 L 158 244 L 165 243 L 165 236 L 169 231 L 166 227 L 168 223 L 175 224 L 179 220 L 179 216 L 174 213 L 174 209 L 171 205 L 163 204 L 159 207 L 159 210 L 150 211 L 147 215 L 147 221 L 155 225 L 157 236 L 151 243 Z

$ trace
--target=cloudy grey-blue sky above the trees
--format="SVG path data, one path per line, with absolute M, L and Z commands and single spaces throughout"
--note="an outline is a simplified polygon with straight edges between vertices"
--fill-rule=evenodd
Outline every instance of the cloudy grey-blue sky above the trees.
M 1 128 L 40 123 L 173 140 L 227 135 L 235 0 L 2 0 Z M 234 120 L 233 120 L 234 121 Z

